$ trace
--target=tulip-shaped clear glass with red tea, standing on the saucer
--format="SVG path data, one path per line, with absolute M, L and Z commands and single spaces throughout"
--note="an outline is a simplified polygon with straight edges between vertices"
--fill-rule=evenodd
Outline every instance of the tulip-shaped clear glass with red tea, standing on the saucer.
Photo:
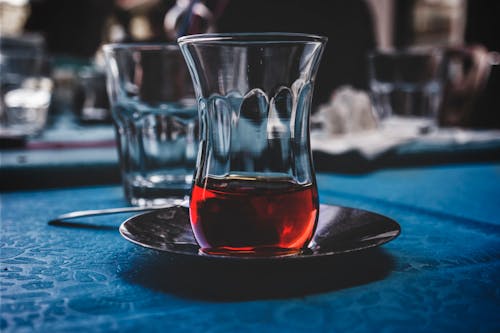
M 178 43 L 200 115 L 190 218 L 202 252 L 301 251 L 319 213 L 309 118 L 326 38 L 205 34 Z

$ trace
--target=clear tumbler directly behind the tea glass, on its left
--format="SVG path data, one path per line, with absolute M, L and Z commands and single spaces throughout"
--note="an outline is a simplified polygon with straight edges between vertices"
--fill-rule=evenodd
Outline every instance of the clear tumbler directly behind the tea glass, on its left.
M 187 197 L 198 149 L 198 111 L 178 45 L 103 49 L 126 198 L 149 206 Z

